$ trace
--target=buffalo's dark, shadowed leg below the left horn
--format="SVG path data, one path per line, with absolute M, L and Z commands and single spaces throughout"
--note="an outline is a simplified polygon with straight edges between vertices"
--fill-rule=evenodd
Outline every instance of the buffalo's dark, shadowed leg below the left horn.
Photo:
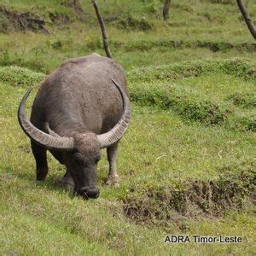
M 42 148 L 34 142 L 31 142 L 31 147 L 37 165 L 37 180 L 44 180 L 48 173 L 46 148 Z

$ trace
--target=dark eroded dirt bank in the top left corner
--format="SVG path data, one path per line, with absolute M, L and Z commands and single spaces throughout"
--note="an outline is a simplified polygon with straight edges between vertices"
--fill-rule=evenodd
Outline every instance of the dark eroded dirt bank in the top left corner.
M 0 8 L 0 32 L 44 32 L 49 34 L 45 21 L 30 12 L 16 13 L 6 8 Z

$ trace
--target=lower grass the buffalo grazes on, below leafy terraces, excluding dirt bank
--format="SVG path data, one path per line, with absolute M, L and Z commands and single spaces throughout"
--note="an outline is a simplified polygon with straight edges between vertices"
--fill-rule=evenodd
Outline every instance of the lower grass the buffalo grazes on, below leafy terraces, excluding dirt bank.
M 214 180 L 219 173 L 232 172 L 238 175 L 252 168 L 251 133 L 186 124 L 175 113 L 134 105 L 131 129 L 119 151 L 121 186 L 113 189 L 104 185 L 108 173 L 104 158 L 99 166 L 98 177 L 101 199 L 74 199 L 55 188 L 54 181 L 63 175 L 64 170 L 52 157 L 49 157 L 50 173 L 46 182 L 34 181 L 29 141 L 20 131 L 16 120 L 17 105 L 26 87 L 15 87 L 14 90 L 9 84 L 2 84 L 0 91 L 3 102 L 0 109 L 3 127 L 3 137 L 0 138 L 3 145 L 0 152 L 1 206 L 5 212 L 3 217 L 9 216 L 4 218 L 5 225 L 1 227 L 3 239 L 8 238 L 8 241 L 4 240 L 2 249 L 6 253 L 12 252 L 13 248 L 15 252 L 23 253 L 40 253 L 45 249 L 48 253 L 149 253 L 152 250 L 163 253 L 170 247 L 174 253 L 207 252 L 206 246 L 165 246 L 163 239 L 166 232 L 159 228 L 148 230 L 143 224 L 130 223 L 122 211 L 122 200 L 130 196 L 131 189 L 135 191 L 133 196 L 139 199 L 148 187 L 167 188 L 170 184 L 182 184 L 190 178 Z M 29 107 L 31 103 L 32 97 Z M 17 140 L 17 137 L 20 139 Z M 133 143 L 129 143 L 131 141 Z M 234 212 L 231 216 L 238 218 L 234 227 L 230 225 L 232 218 L 229 216 L 216 219 L 212 226 L 212 220 L 192 218 L 174 222 L 168 232 L 179 234 L 182 232 L 180 225 L 185 225 L 186 230 L 183 232 L 189 234 L 213 235 L 220 230 L 223 230 L 222 234 L 241 234 L 239 230 L 246 224 L 248 228 L 244 237 L 247 238 L 242 246 L 215 245 L 212 246 L 212 252 L 230 250 L 232 253 L 241 253 L 245 247 L 247 252 L 252 252 L 253 218 L 249 212 Z M 67 241 L 64 246 L 62 238 Z M 20 244 L 21 240 L 26 242 Z M 57 250 L 53 241 L 61 247 L 61 251 L 59 248 Z M 148 243 L 150 246 L 145 246 Z

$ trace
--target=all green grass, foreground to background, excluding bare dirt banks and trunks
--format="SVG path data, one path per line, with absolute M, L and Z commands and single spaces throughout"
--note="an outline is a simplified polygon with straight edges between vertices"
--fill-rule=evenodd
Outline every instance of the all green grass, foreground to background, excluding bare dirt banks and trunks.
M 241 255 L 255 252 L 255 218 L 250 207 L 241 212 L 226 212 L 224 218 L 212 216 L 203 219 L 199 216 L 169 222 L 166 231 L 157 227 L 158 222 L 149 228 L 143 223 L 134 224 L 125 218 L 122 211 L 122 200 L 131 194 L 139 199 L 144 189 L 166 188 L 174 183 L 183 184 L 189 179 L 215 180 L 220 174 L 232 172 L 236 175 L 252 169 L 254 137 L 253 132 L 245 127 L 247 122 L 253 122 L 254 108 L 251 102 L 254 100 L 250 96 L 255 86 L 251 73 L 255 72 L 255 64 L 250 59 L 255 53 L 236 47 L 213 52 L 207 47 L 190 49 L 188 45 L 171 48 L 148 46 L 148 42 L 166 42 L 170 38 L 192 44 L 197 40 L 214 44 L 253 44 L 243 21 L 238 19 L 236 5 L 212 4 L 209 1 L 191 1 L 193 4 L 188 1 L 174 2 L 170 26 L 163 26 L 157 1 L 144 4 L 134 0 L 127 5 L 125 1 L 112 0 L 116 3 L 114 8 L 104 1 L 98 2 L 105 16 L 119 12 L 124 14 L 121 16 L 130 13 L 140 17 L 143 14 L 146 20 L 153 20 L 154 23 L 154 30 L 147 32 L 127 32 L 118 29 L 115 24 L 108 25 L 113 53 L 128 71 L 133 101 L 131 129 L 119 150 L 118 166 L 122 183 L 119 188 L 104 186 L 108 173 L 107 160 L 104 158 L 99 165 L 101 198 L 97 201 L 72 198 L 55 188 L 55 179 L 61 177 L 64 168 L 50 155 L 49 177 L 45 183 L 35 182 L 32 153 L 28 139 L 17 124 L 16 108 L 27 86 L 37 85 L 44 79 L 44 74 L 0 67 L 0 125 L 3 130 L 0 137 L 0 251 L 24 254 Z M 73 15 L 72 10 L 60 7 L 59 1 L 1 3 L 13 9 L 30 9 L 45 17 L 49 11 Z M 49 24 L 54 32 L 50 36 L 31 32 L 26 35 L 1 34 L 2 65 L 15 64 L 47 73 L 67 57 L 86 55 L 93 50 L 103 54 L 97 43 L 100 42 L 99 33 L 94 28 L 97 25 L 89 1 L 83 1 L 83 7 L 86 13 L 92 14 L 88 23 L 75 21 L 73 25 L 63 26 L 61 31 Z M 252 3 L 250 7 L 255 14 Z M 142 43 L 142 40 L 146 43 Z M 56 47 L 59 45 L 56 42 L 61 42 L 61 47 Z M 55 58 L 52 58 L 53 55 Z M 220 61 L 228 72 L 220 72 L 224 69 L 216 61 L 172 65 L 179 61 L 231 57 L 247 57 L 248 61 L 241 61 L 241 66 L 228 67 L 225 63 L 230 63 L 229 60 Z M 143 68 L 138 68 L 141 66 Z M 210 71 L 201 67 L 210 67 Z M 235 67 L 238 72 L 234 72 Z M 176 101 L 175 108 L 172 108 L 172 104 L 163 104 L 161 91 L 166 92 L 170 88 L 171 93 L 167 95 L 171 102 L 173 99 Z M 28 108 L 34 95 L 35 92 L 28 101 Z M 196 119 L 196 116 L 204 114 L 204 102 L 213 102 L 221 111 L 231 111 L 229 119 L 216 125 Z M 195 108 L 198 109 L 196 114 L 192 117 L 188 115 Z M 207 117 L 214 117 L 211 114 L 207 113 Z M 241 116 L 245 123 L 237 122 Z M 240 125 L 237 127 L 232 120 Z M 239 245 L 164 244 L 166 234 L 180 233 L 238 235 L 244 240 Z

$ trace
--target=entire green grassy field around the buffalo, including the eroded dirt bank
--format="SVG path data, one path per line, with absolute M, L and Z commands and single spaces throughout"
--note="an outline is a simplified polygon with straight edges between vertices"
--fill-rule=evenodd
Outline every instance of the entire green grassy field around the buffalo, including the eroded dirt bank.
M 61 62 L 105 55 L 90 1 L 80 2 L 83 10 L 59 0 L 0 0 L 0 253 L 256 253 L 256 44 L 232 1 L 172 1 L 164 23 L 158 0 L 98 0 L 131 93 L 120 186 L 105 185 L 105 152 L 97 200 L 58 188 L 65 169 L 50 154 L 49 176 L 35 181 L 30 143 L 17 121 L 21 97 L 34 86 L 29 111 L 40 82 Z M 247 8 L 256 18 L 254 3 Z M 20 32 L 3 9 L 39 15 L 45 30 Z M 164 242 L 181 234 L 242 242 Z

